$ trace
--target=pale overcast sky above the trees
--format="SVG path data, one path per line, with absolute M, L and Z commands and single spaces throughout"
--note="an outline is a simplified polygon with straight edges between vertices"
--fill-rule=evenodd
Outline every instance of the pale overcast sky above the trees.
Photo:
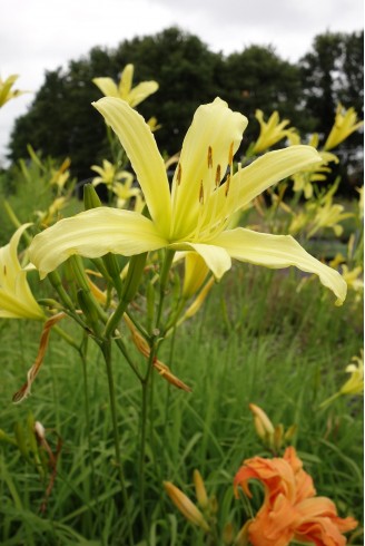
M 10 0 L 1 10 L 0 77 L 19 74 L 17 87 L 36 92 L 46 70 L 66 67 L 93 46 L 115 48 L 172 25 L 199 36 L 213 51 L 228 55 L 251 43 L 272 45 L 283 59 L 296 62 L 316 35 L 361 30 L 363 1 Z M 0 109 L 0 164 L 13 121 L 32 98 L 21 96 Z

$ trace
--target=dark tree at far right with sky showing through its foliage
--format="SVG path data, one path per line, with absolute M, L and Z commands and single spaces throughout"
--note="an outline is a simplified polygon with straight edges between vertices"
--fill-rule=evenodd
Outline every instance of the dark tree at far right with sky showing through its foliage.
M 315 119 L 314 129 L 320 131 L 323 140 L 334 124 L 338 103 L 354 107 L 359 118 L 364 115 L 363 59 L 364 31 L 326 32 L 314 39 L 312 51 L 299 61 L 305 111 Z M 363 179 L 362 150 L 363 136 L 358 131 L 336 150 L 341 165 L 333 173 L 343 178 L 342 192 L 347 192 L 348 183 L 358 186 Z

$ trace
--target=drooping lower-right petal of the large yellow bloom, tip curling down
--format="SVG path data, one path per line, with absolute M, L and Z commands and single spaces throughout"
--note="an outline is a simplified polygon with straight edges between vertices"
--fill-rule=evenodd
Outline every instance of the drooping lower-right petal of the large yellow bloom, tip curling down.
M 347 284 L 341 274 L 308 254 L 290 235 L 270 235 L 256 233 L 243 227 L 223 232 L 211 244 L 220 245 L 229 255 L 241 262 L 266 267 L 295 267 L 318 275 L 322 284 L 337 296 L 341 305 L 347 291 Z

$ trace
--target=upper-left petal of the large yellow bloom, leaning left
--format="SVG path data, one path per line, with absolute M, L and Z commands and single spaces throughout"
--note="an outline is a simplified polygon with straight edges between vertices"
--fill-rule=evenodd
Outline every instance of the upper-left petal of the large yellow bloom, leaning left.
M 92 103 L 125 148 L 142 188 L 149 213 L 166 236 L 171 220 L 170 191 L 164 159 L 145 119 L 127 103 L 105 97 Z

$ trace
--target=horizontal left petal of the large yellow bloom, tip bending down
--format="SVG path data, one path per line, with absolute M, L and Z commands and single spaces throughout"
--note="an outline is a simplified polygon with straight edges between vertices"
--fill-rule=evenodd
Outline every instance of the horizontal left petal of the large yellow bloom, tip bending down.
M 36 235 L 29 256 L 43 277 L 73 254 L 100 257 L 111 252 L 132 256 L 166 244 L 154 223 L 141 214 L 98 207 L 61 220 Z

